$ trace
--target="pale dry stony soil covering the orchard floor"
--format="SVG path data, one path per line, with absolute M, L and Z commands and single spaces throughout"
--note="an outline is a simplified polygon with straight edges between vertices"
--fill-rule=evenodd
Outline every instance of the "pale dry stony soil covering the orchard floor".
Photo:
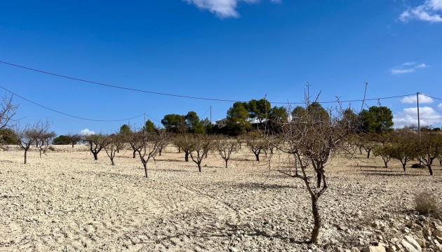
M 112 167 L 86 146 L 55 146 L 28 164 L 13 147 L 0 153 L 0 251 L 442 251 L 441 220 L 420 216 L 415 193 L 441 199 L 442 169 L 408 169 L 363 155 L 335 158 L 320 199 L 320 244 L 310 199 L 288 169 L 251 151 L 229 168 L 210 154 L 203 172 L 174 148 L 149 162 L 119 153 Z

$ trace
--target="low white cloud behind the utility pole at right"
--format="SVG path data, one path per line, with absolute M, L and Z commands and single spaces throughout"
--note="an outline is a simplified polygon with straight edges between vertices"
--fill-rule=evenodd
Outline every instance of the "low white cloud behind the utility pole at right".
M 419 108 L 420 125 L 434 125 L 442 122 L 442 115 L 429 106 Z M 394 127 L 417 125 L 417 107 L 403 109 L 393 117 Z

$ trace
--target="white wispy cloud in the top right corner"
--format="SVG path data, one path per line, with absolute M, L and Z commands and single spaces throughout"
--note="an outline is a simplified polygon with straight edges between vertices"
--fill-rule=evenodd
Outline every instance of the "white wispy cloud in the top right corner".
M 441 10 L 442 0 L 425 0 L 422 5 L 404 11 L 399 20 L 402 22 L 408 22 L 409 20 L 442 22 Z

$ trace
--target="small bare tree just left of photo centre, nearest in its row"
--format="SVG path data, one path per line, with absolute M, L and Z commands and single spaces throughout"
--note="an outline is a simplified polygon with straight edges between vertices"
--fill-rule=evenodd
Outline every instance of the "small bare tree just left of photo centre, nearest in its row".
M 213 139 L 206 134 L 194 134 L 193 136 L 186 136 L 187 145 L 190 146 L 190 158 L 196 165 L 198 165 L 199 172 L 201 169 L 201 162 L 207 157 L 207 153 L 212 148 Z

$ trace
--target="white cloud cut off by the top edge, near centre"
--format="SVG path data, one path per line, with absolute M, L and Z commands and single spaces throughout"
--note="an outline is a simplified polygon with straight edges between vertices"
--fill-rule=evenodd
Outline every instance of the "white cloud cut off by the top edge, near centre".
M 239 13 L 236 11 L 238 3 L 257 3 L 260 0 L 183 0 L 187 3 L 194 4 L 201 10 L 209 10 L 220 18 L 238 18 Z M 281 0 L 270 0 L 272 3 L 280 3 Z

